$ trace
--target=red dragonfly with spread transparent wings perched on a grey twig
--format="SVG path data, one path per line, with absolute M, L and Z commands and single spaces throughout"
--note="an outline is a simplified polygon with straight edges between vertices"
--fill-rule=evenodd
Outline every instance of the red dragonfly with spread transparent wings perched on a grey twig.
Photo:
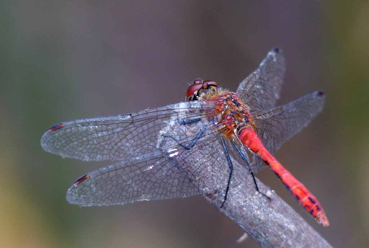
M 297 202 L 328 226 L 317 198 L 272 155 L 324 105 L 324 93 L 314 91 L 275 106 L 284 71 L 283 53 L 275 48 L 236 92 L 197 79 L 186 101 L 62 122 L 46 130 L 41 145 L 62 157 L 117 161 L 77 179 L 66 194 L 72 204 L 117 205 L 225 189 L 223 207 L 245 175 L 270 167 Z

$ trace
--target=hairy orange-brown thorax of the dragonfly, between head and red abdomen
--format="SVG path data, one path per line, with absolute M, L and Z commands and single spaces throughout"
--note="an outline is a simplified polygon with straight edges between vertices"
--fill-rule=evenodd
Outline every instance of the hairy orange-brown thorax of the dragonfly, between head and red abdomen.
M 223 125 L 225 137 L 232 134 L 238 136 L 244 128 L 255 130 L 249 109 L 236 93 L 217 88 L 204 92 L 200 95 L 199 100 L 217 104 L 217 111 L 221 113 L 218 125 Z

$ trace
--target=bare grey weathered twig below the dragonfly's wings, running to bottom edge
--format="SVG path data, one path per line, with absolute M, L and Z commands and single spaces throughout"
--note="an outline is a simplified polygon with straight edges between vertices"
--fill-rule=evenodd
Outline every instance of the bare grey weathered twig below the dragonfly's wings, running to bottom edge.
M 250 174 L 246 175 L 241 184 L 228 191 L 227 201 L 221 208 L 224 190 L 204 196 L 263 248 L 332 248 L 286 202 L 270 191 L 268 186 L 258 179 L 256 181 L 260 191 L 268 192 L 271 200 L 256 192 Z

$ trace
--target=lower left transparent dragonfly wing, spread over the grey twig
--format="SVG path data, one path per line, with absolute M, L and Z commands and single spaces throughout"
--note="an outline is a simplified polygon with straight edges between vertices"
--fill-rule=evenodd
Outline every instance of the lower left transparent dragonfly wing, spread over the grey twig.
M 219 130 L 204 128 L 207 123 L 201 120 L 171 124 L 163 132 L 171 130 L 175 135 L 164 135 L 159 151 L 90 172 L 69 188 L 67 200 L 86 206 L 115 205 L 188 197 L 227 187 L 230 165 Z M 246 167 L 234 168 L 231 185 L 246 173 Z

